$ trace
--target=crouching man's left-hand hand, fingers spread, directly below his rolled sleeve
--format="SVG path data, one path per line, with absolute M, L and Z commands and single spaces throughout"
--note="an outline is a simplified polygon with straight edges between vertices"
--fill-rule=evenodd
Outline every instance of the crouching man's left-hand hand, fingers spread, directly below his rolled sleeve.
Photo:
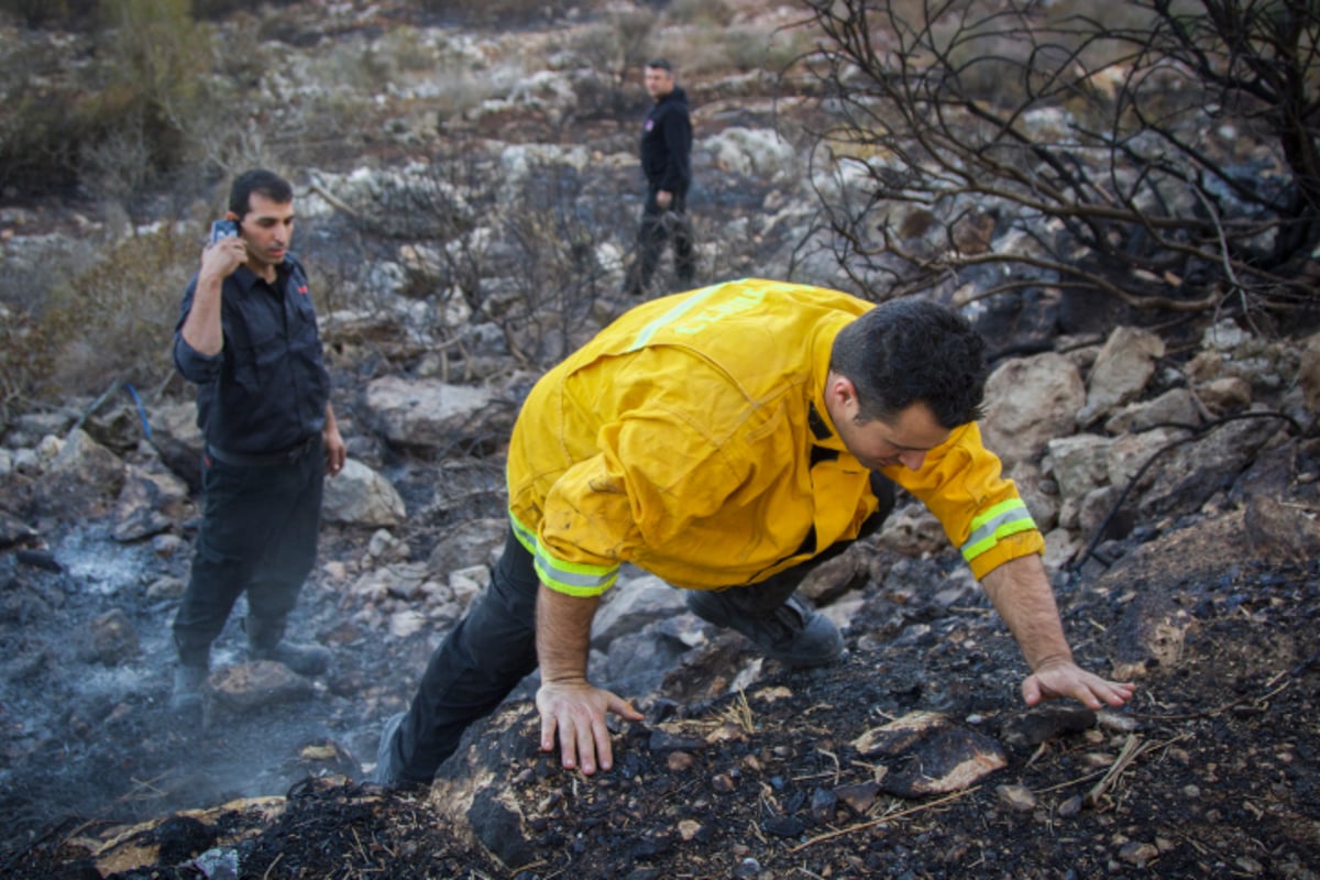
M 541 714 L 541 751 L 554 751 L 557 734 L 564 767 L 579 767 L 587 776 L 597 768 L 609 770 L 614 767 L 606 712 L 630 722 L 642 720 L 642 712 L 628 701 L 595 687 L 585 678 L 543 683 L 536 691 L 536 710 Z

